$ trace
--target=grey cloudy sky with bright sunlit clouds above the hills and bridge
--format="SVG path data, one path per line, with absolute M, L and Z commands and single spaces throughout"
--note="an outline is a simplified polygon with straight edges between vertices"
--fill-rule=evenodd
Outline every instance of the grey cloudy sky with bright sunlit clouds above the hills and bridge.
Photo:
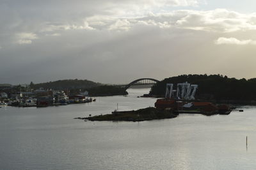
M 0 0 L 0 83 L 256 77 L 255 6 L 255 0 Z

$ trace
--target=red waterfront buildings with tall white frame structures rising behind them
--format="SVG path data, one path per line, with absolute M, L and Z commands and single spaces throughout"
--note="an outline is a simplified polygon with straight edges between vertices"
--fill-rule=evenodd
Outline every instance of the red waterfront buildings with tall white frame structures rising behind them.
M 209 114 L 220 113 L 229 114 L 229 105 L 216 105 L 212 102 L 203 102 L 195 100 L 195 93 L 198 89 L 197 84 L 188 82 L 178 83 L 177 89 L 173 84 L 166 84 L 165 98 L 157 99 L 155 107 L 163 110 L 168 109 L 178 113 L 203 113 Z

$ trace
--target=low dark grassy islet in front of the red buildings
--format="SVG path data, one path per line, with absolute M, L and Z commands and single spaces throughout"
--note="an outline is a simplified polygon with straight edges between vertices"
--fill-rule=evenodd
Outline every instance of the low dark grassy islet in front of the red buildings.
M 92 116 L 88 118 L 75 118 L 79 120 L 90 121 L 145 121 L 145 120 L 161 120 L 176 118 L 177 114 L 172 111 L 159 111 L 155 107 L 139 109 L 137 111 L 113 112 L 113 114 L 105 114 Z

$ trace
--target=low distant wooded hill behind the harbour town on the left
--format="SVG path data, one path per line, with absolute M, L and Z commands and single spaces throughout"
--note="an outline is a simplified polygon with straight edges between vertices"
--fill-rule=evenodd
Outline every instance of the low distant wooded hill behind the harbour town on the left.
M 62 80 L 62 81 L 50 81 L 50 82 L 44 82 L 39 84 L 33 84 L 33 82 L 30 83 L 31 88 L 38 89 L 38 88 L 44 88 L 44 89 L 88 89 L 100 86 L 99 82 L 93 82 L 88 80 Z

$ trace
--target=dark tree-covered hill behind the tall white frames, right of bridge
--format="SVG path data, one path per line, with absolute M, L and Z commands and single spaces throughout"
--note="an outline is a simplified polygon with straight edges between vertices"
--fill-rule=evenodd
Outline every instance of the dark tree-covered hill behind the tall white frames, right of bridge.
M 198 84 L 196 98 L 214 100 L 256 100 L 256 78 L 235 79 L 223 75 L 179 75 L 157 82 L 150 91 L 150 95 L 163 97 L 166 83 L 189 82 Z

